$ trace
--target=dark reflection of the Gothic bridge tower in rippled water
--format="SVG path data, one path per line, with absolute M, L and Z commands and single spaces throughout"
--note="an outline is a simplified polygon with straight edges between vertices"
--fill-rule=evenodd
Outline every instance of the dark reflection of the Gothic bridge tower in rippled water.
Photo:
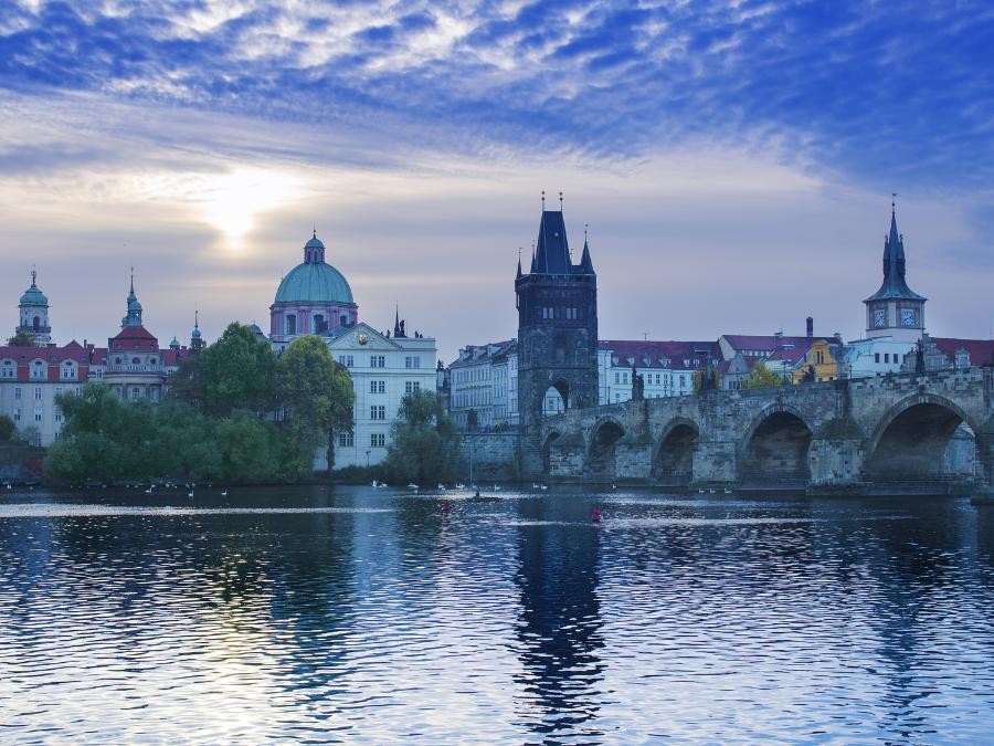
M 548 501 L 518 505 L 520 725 L 548 737 L 603 735 L 596 725 L 604 702 L 599 690 L 604 641 L 596 593 L 598 526 L 590 522 L 585 501 L 554 509 Z M 558 525 L 550 525 L 553 521 Z

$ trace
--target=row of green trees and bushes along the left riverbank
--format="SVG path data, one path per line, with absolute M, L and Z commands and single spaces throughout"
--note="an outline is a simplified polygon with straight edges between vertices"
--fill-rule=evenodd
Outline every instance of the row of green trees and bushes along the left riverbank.
M 441 397 L 419 391 L 403 397 L 381 464 L 315 472 L 315 453 L 334 463 L 337 433 L 352 427 L 348 369 L 319 337 L 295 339 L 277 357 L 237 323 L 180 360 L 159 403 L 121 400 L 97 381 L 56 402 L 65 427 L 43 461 L 54 486 L 427 485 L 451 481 L 459 459 Z

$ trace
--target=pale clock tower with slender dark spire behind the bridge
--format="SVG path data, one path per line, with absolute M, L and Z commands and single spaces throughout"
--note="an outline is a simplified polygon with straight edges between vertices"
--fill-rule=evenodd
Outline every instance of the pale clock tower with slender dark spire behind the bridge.
M 884 283 L 866 304 L 866 336 L 914 343 L 924 332 L 924 303 L 905 281 L 905 237 L 898 232 L 893 203 L 890 235 L 884 239 Z

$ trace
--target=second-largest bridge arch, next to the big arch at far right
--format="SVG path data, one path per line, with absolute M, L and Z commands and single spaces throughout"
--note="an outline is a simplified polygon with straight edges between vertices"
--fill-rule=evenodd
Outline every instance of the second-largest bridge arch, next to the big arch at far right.
M 764 407 L 740 443 L 739 481 L 806 486 L 813 434 L 807 418 L 795 407 L 783 402 Z

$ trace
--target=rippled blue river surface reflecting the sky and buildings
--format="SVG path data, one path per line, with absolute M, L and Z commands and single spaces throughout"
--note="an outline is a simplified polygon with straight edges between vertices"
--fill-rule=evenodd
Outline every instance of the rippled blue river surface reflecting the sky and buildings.
M 7 493 L 0 740 L 990 743 L 994 507 L 694 497 Z

